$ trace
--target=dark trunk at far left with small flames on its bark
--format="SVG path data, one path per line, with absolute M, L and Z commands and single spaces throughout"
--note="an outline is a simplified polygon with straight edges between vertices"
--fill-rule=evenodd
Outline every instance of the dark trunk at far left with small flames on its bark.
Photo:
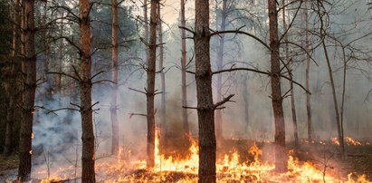
M 24 0 L 24 93 L 23 116 L 19 141 L 18 180 L 26 181 L 31 174 L 33 113 L 36 91 L 36 54 L 34 46 L 34 1 Z

